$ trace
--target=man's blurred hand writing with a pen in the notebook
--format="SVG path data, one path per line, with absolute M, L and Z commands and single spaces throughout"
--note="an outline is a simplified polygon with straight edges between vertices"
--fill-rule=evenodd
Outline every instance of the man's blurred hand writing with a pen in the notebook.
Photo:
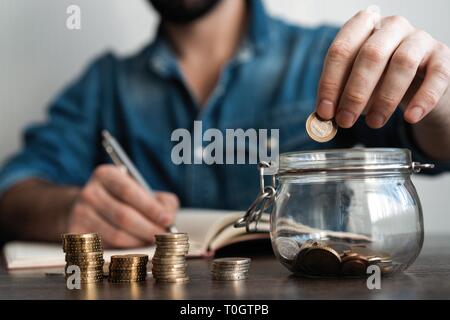
M 69 232 L 99 232 L 110 247 L 135 247 L 165 232 L 178 209 L 178 198 L 151 196 L 125 170 L 99 166 L 80 191 L 68 220 Z

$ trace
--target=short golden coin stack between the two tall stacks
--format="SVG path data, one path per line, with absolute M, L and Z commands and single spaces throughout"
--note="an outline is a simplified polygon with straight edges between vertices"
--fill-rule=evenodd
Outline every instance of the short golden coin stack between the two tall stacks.
M 124 254 L 111 256 L 109 281 L 138 282 L 147 277 L 148 255 Z

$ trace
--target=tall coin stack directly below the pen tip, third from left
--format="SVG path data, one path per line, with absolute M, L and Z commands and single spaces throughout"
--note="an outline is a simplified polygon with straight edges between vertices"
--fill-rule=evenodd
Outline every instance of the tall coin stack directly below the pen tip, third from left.
M 152 274 L 158 282 L 184 283 L 189 281 L 186 273 L 186 255 L 189 237 L 186 233 L 158 234 L 156 250 L 152 259 Z

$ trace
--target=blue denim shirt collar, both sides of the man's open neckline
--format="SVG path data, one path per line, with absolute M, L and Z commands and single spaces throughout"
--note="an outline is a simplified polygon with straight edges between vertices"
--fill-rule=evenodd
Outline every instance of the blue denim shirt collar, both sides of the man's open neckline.
M 253 55 L 269 48 L 271 38 L 270 17 L 267 15 L 261 0 L 247 0 L 249 6 L 249 27 L 235 59 L 245 62 Z M 158 26 L 155 40 L 148 47 L 149 66 L 162 76 L 177 73 L 176 56 L 164 35 L 162 24 Z

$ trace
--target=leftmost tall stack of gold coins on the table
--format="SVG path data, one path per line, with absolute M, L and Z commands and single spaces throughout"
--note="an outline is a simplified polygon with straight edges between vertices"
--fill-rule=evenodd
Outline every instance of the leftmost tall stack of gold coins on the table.
M 75 265 L 80 268 L 81 283 L 103 280 L 103 249 L 97 233 L 63 234 L 62 244 L 66 253 L 66 277 L 70 276 L 67 268 Z

